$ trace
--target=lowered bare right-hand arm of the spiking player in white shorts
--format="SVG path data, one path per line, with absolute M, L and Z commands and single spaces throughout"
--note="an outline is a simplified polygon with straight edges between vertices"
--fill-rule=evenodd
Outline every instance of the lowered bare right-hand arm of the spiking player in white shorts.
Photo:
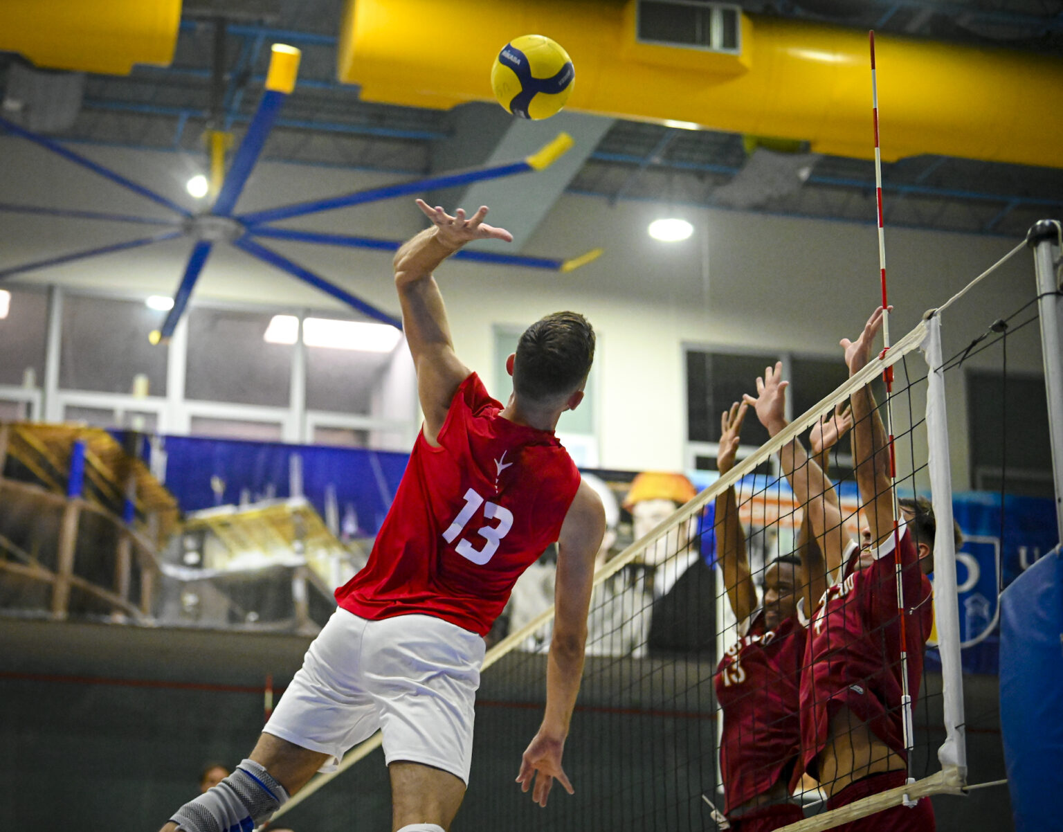
M 557 541 L 554 634 L 546 664 L 546 709 L 542 725 L 521 758 L 517 782 L 533 788 L 532 799 L 546 805 L 554 780 L 574 793 L 561 755 L 584 673 L 587 612 L 594 578 L 594 557 L 605 536 L 605 510 L 594 489 L 580 482 Z M 538 775 L 538 776 L 537 776 Z

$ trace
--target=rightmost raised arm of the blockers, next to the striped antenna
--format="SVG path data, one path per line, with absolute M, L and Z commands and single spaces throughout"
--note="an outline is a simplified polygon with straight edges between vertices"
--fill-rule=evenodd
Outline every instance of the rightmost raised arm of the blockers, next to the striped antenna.
M 850 377 L 871 360 L 872 346 L 882 328 L 882 307 L 876 309 L 855 341 L 848 338 L 841 340 Z M 870 385 L 853 394 L 853 421 L 856 425 L 853 458 L 860 504 L 867 515 L 872 545 L 877 546 L 893 531 L 893 492 L 885 428 Z

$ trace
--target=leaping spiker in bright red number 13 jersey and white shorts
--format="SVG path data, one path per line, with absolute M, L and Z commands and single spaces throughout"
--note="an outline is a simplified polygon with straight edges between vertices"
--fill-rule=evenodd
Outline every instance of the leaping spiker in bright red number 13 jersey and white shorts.
M 543 806 L 555 779 L 573 791 L 561 754 L 605 513 L 553 431 L 583 398 L 594 333 L 574 312 L 536 322 L 507 361 L 508 404 L 491 398 L 454 352 L 433 271 L 470 240 L 512 236 L 484 223 L 486 207 L 467 219 L 417 204 L 433 225 L 399 250 L 394 273 L 424 424 L 394 502 L 250 759 L 164 830 L 250 830 L 381 729 L 392 829 L 444 832 L 469 778 L 483 636 L 554 541 L 545 714 L 517 779 Z

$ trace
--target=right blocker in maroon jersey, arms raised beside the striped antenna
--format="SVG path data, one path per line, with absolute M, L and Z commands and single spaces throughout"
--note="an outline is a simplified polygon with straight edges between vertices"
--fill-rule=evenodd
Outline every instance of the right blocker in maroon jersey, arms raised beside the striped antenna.
M 842 340 L 850 375 L 866 366 L 881 324 L 879 308 L 856 341 Z M 757 379 L 759 396 L 753 401 L 772 436 L 786 426 L 781 407 L 786 384 L 778 369 Z M 828 809 L 901 786 L 908 776 L 889 446 L 870 387 L 853 395 L 851 408 L 857 485 L 870 533 L 861 548 L 856 541 L 845 539 L 836 508 L 824 503 L 823 513 L 812 513 L 813 533 L 821 540 L 836 580 L 811 615 L 800 687 L 803 765 L 798 772 L 804 768 L 820 781 L 828 795 Z M 792 470 L 803 463 L 798 453 L 784 459 L 783 468 L 789 464 Z M 908 500 L 901 514 L 905 522 L 898 538 L 907 616 L 904 646 L 914 710 L 932 625 L 931 590 L 925 573 L 932 568 L 929 556 L 933 540 L 927 539 L 928 526 L 914 516 Z M 932 527 L 931 522 L 930 533 Z M 923 798 L 913 806 L 896 805 L 837 829 L 928 832 L 934 829 L 933 809 L 929 799 Z

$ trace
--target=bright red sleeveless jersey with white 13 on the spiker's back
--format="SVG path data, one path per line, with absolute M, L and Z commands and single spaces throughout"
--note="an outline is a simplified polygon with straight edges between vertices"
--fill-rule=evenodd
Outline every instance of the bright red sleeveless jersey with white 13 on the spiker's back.
M 499 415 L 475 373 L 439 447 L 420 434 L 369 562 L 336 591 L 362 618 L 420 613 L 486 635 L 520 577 L 560 534 L 579 472 L 553 431 Z

